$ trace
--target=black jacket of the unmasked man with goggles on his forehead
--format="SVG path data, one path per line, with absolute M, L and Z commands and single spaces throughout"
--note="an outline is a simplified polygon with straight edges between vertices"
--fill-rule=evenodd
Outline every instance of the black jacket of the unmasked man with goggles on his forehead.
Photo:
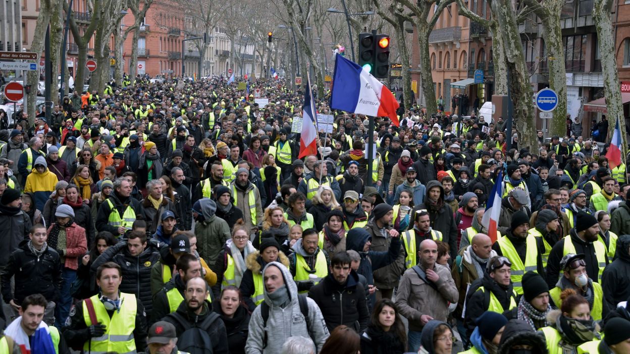
M 484 312 L 488 311 L 488 305 L 485 303 L 486 294 L 481 291 L 477 291 L 479 287 L 484 287 L 484 292 L 490 291 L 499 300 L 503 309 L 510 308 L 510 297 L 513 294 L 513 284 L 505 288 L 495 282 L 490 277 L 487 271 L 483 272 L 483 278 L 478 278 L 473 282 L 468 289 L 468 295 L 466 297 L 466 317 L 464 318 L 464 326 L 466 326 L 467 333 L 473 333 L 474 328 L 477 326 L 474 321 L 477 317 L 481 316 Z

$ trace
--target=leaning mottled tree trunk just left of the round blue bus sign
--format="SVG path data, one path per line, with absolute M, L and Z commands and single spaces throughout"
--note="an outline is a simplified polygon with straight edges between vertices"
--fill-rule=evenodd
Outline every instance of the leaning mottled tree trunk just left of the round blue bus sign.
M 499 35 L 504 39 L 507 69 L 510 74 L 508 86 L 513 102 L 513 127 L 518 132 L 518 147 L 529 147 L 536 151 L 536 124 L 534 123 L 534 103 L 532 102 L 532 86 L 529 84 L 529 73 L 525 66 L 523 46 L 516 22 L 516 14 L 510 0 L 494 0 L 492 2 L 499 22 Z M 515 119 L 518 117 L 518 119 Z M 507 139 L 512 139 L 512 132 L 508 132 Z

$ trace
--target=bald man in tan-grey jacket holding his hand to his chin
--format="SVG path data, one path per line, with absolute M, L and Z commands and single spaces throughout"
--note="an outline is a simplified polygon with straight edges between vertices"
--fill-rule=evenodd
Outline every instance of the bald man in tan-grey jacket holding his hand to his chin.
M 396 304 L 409 321 L 409 351 L 420 348 L 420 336 L 425 324 L 432 319 L 446 321 L 449 302 L 459 299 L 459 292 L 449 268 L 437 264 L 437 244 L 425 239 L 418 251 L 420 264 L 403 273 L 396 293 Z

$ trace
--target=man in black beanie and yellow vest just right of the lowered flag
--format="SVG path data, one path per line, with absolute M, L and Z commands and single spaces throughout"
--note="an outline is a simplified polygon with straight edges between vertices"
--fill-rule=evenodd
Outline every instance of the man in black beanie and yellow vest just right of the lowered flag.
M 492 249 L 499 256 L 505 256 L 512 263 L 512 282 L 514 291 L 523 294 L 522 278 L 526 271 L 537 271 L 544 274 L 542 254 L 545 246 L 542 237 L 529 234 L 529 217 L 525 212 L 517 211 L 512 215 L 510 229 L 505 236 L 499 237 Z

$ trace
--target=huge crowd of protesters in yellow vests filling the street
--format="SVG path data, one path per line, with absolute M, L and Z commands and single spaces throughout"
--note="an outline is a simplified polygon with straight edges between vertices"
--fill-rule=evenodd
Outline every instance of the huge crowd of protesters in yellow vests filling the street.
M 7 120 L 0 353 L 630 353 L 605 118 L 526 147 L 417 105 L 370 132 L 324 95 L 300 157 L 301 89 L 125 76 Z

